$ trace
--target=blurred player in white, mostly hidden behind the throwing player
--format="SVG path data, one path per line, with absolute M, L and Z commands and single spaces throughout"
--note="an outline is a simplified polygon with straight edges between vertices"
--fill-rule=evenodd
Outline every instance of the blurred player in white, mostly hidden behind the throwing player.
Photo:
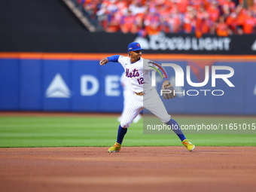
M 131 98 L 131 94 L 133 94 L 130 91 L 130 81 L 128 78 L 126 78 L 125 72 L 120 77 L 120 84 L 123 87 L 123 111 L 120 117 L 117 118 L 117 120 L 120 122 L 123 118 L 123 112 L 124 108 L 126 108 L 126 105 L 129 103 L 129 99 Z M 137 117 L 133 120 L 133 123 L 138 123 L 139 120 L 142 118 L 141 114 L 138 114 Z

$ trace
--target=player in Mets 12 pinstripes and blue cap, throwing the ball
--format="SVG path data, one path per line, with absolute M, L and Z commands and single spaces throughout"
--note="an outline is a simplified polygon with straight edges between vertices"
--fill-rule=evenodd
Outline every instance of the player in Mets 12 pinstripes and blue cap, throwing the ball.
M 150 72 L 154 68 L 152 68 L 153 64 L 150 60 L 142 58 L 142 50 L 139 43 L 133 42 L 128 45 L 128 56 L 108 56 L 99 61 L 101 66 L 104 66 L 107 62 L 119 62 L 123 66 L 126 78 L 130 81 L 130 90 L 133 93 L 123 111 L 123 118 L 117 131 L 117 142 L 111 148 L 108 148 L 108 152 L 120 151 L 127 128 L 143 108 L 147 108 L 148 111 L 151 111 L 170 127 L 178 126 L 178 123 L 167 113 L 157 90 L 151 87 Z M 178 129 L 172 130 L 181 139 L 181 143 L 188 151 L 194 150 L 195 145 L 186 139 L 179 126 Z

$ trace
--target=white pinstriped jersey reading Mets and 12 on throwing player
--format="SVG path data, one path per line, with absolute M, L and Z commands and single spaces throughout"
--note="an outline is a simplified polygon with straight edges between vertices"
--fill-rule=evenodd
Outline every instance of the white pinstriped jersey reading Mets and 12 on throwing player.
M 145 90 L 151 90 L 151 76 L 150 72 L 153 71 L 148 59 L 139 59 L 137 62 L 131 62 L 129 56 L 119 56 L 118 62 L 123 66 L 126 72 L 126 78 L 129 78 L 130 89 L 133 92 L 139 93 Z

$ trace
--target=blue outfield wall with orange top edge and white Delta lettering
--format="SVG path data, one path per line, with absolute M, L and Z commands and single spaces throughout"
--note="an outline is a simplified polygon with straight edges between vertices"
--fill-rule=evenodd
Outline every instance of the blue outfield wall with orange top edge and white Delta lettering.
M 119 78 L 123 68 L 112 62 L 99 66 L 102 56 L 106 55 L 0 54 L 0 110 L 121 112 Z M 144 57 L 158 63 L 175 63 L 184 71 L 184 87 L 176 87 L 177 98 L 163 101 L 170 114 L 256 114 L 256 58 L 157 54 Z M 209 82 L 203 87 L 190 86 L 187 66 L 194 83 L 204 81 L 205 66 L 209 66 Z M 234 75 L 227 79 L 235 87 L 220 78 L 212 87 L 212 66 L 230 66 Z M 174 69 L 165 69 L 175 84 Z M 219 75 L 228 73 L 216 71 Z M 160 93 L 159 75 L 156 82 Z

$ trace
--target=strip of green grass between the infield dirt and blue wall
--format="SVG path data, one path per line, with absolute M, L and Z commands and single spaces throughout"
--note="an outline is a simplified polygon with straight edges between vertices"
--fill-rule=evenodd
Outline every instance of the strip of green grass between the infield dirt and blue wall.
M 175 117 L 183 124 L 256 123 L 254 117 Z M 110 146 L 116 141 L 116 117 L 0 117 L 0 148 Z M 133 123 L 125 146 L 180 146 L 175 134 L 143 134 Z M 255 130 L 256 133 L 256 130 Z M 197 146 L 256 146 L 256 134 L 186 134 Z

